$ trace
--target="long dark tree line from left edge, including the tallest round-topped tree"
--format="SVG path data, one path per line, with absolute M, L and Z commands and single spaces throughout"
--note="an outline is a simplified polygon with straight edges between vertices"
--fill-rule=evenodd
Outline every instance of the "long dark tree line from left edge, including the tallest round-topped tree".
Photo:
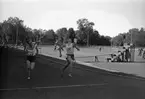
M 77 20 L 77 30 L 62 27 L 56 31 L 53 29 L 32 29 L 24 24 L 24 20 L 18 17 L 9 17 L 0 22 L 0 43 L 19 44 L 25 43 L 26 38 L 38 41 L 41 44 L 54 44 L 56 39 L 65 42 L 68 38 L 77 38 L 79 45 L 110 45 L 111 37 L 99 34 L 93 29 L 95 25 L 86 18 Z

